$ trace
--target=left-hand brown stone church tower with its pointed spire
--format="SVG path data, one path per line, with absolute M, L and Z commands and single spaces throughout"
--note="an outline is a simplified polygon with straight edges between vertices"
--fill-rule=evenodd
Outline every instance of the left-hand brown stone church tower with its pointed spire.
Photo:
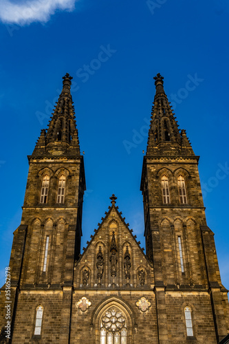
M 69 74 L 63 77 L 63 89 L 48 129 L 41 131 L 32 155 L 28 156 L 30 168 L 23 213 L 21 224 L 14 231 L 10 257 L 13 343 L 25 343 L 21 336 L 28 330 L 25 309 L 33 304 L 34 294 L 40 313 L 45 304 L 52 319 L 60 316 L 61 330 L 58 321 L 53 320 L 54 333 L 58 327 L 56 333 L 60 331 L 59 338 L 66 343 L 69 336 L 74 261 L 80 255 L 85 191 L 71 80 Z M 61 311 L 58 303 L 62 304 Z M 36 339 L 40 330 L 38 325 L 34 331 Z

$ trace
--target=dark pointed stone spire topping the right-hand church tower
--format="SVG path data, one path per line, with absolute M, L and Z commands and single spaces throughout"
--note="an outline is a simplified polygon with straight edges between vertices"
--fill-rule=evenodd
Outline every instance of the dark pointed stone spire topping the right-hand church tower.
M 184 139 L 185 144 L 182 144 L 184 136 L 179 132 L 179 125 L 164 92 L 163 79 L 160 73 L 154 77 L 156 93 L 146 155 L 194 155 L 190 143 L 188 147 L 187 138 Z M 181 151 L 182 147 L 186 147 L 186 151 Z

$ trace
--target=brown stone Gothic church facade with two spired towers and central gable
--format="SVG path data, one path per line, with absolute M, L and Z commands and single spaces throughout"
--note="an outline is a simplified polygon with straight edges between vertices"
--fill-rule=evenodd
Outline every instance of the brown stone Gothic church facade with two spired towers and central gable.
M 1 343 L 216 344 L 229 332 L 198 160 L 155 76 L 142 166 L 146 253 L 115 195 L 80 254 L 85 169 L 70 93 L 63 90 L 32 155 L 20 226 L 1 288 Z

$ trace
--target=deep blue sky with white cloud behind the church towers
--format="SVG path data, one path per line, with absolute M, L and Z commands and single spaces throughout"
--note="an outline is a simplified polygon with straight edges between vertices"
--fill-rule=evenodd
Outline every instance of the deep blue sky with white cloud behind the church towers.
M 207 222 L 229 288 L 228 1 L 7 0 L 0 12 L 1 284 L 21 221 L 27 155 L 47 127 L 66 72 L 74 77 L 85 151 L 82 247 L 112 193 L 144 246 L 142 150 L 160 72 L 180 128 L 201 156 Z M 129 152 L 127 141 L 135 144 Z

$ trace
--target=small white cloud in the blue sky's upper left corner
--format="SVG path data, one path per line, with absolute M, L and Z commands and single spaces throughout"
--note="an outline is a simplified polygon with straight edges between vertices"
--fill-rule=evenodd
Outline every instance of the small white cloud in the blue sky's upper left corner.
M 26 25 L 34 21 L 47 22 L 56 10 L 73 11 L 76 0 L 28 0 L 13 3 L 1 0 L 0 20 L 3 23 Z

